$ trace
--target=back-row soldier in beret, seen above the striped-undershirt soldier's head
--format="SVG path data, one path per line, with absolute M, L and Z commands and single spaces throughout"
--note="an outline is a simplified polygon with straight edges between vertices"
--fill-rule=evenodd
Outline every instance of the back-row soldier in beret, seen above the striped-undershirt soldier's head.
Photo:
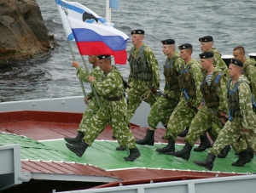
M 214 54 L 213 65 L 218 66 L 226 75 L 228 75 L 228 67 L 224 60 L 221 58 L 221 54 L 217 48 L 212 48 L 213 37 L 206 36 L 199 38 L 200 47 L 202 52 L 212 52 Z

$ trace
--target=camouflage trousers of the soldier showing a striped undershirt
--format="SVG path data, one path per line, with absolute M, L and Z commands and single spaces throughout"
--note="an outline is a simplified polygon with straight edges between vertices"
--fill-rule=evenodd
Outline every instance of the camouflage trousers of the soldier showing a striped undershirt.
M 214 126 L 213 123 L 215 123 Z M 218 132 L 216 132 L 216 130 L 218 130 L 218 128 L 223 128 L 223 125 L 220 119 L 208 109 L 207 105 L 203 105 L 193 118 L 189 126 L 189 133 L 184 140 L 194 146 L 196 140 L 199 139 L 203 133 L 206 133 L 209 128 L 212 128 L 212 130 L 215 131 L 211 133 L 214 136 L 214 139 L 217 139 Z

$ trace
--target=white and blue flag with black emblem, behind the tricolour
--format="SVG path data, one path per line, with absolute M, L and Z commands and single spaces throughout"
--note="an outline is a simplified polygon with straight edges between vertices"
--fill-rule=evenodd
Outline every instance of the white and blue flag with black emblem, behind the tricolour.
M 64 0 L 55 0 L 59 14 L 61 16 L 61 22 L 66 33 L 67 41 L 73 41 L 73 32 L 67 21 L 67 15 L 64 10 L 67 10 L 68 16 L 76 20 L 81 20 L 87 23 L 96 23 L 98 25 L 112 26 L 113 23 L 109 23 L 107 20 L 94 13 L 90 9 L 84 7 L 84 5 L 77 2 L 67 2 Z

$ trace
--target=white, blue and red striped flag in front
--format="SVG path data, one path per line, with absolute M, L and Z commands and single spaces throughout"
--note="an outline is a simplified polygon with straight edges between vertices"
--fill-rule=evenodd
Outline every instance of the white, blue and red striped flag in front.
M 129 37 L 111 26 L 97 25 L 75 20 L 67 16 L 81 55 L 109 54 L 115 64 L 125 65 L 126 43 Z

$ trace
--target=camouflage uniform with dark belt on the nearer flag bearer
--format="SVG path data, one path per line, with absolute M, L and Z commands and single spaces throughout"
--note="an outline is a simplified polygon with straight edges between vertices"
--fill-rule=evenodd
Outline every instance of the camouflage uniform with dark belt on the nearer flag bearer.
M 124 84 L 119 71 L 112 69 L 104 74 L 102 81 L 94 80 L 93 86 L 98 94 L 102 96 L 102 105 L 92 117 L 90 129 L 84 133 L 84 142 L 91 145 L 96 137 L 111 122 L 113 134 L 119 144 L 132 149 L 135 148 L 135 139 L 125 121 L 127 103 L 124 97 Z

